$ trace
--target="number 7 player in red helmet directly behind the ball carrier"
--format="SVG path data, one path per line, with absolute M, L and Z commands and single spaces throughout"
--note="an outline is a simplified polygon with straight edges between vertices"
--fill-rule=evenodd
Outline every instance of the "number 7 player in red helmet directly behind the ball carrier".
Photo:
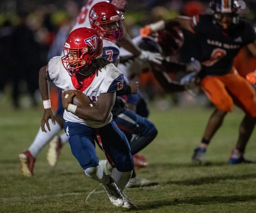
M 103 37 L 103 53 L 102 57 L 109 60 L 113 64 L 117 65 L 119 62 L 119 47 L 114 43 L 118 41 L 123 34 L 124 17 L 118 9 L 109 2 L 99 2 L 93 5 L 90 12 L 90 26 L 100 32 Z M 105 20 L 105 21 L 102 21 Z M 127 95 L 137 92 L 137 82 L 134 86 L 131 86 L 131 82 L 124 85 L 126 89 L 117 91 L 117 95 Z M 136 89 L 134 89 L 136 88 Z M 120 105 L 119 99 L 116 99 L 112 109 L 113 119 L 118 125 L 119 129 L 125 132 L 126 136 L 131 139 L 131 134 L 136 134 L 139 137 L 133 137 L 133 140 L 129 140 L 131 143 L 131 153 L 134 155 L 138 151 L 147 146 L 157 135 L 157 129 L 155 125 L 148 119 L 137 115 L 135 112 L 128 110 Z M 64 138 L 61 135 L 54 138 L 55 143 L 60 143 L 59 138 Z M 52 142 L 51 142 L 52 143 Z M 50 146 L 52 146 L 50 144 Z M 55 147 L 53 148 L 55 150 Z M 52 150 L 52 149 L 49 149 Z M 50 151 L 48 156 L 50 155 Z M 56 155 L 53 155 L 56 156 Z M 48 157 L 50 159 L 50 157 Z M 55 162 L 57 159 L 55 158 Z M 105 172 L 112 173 L 112 167 L 107 160 L 100 161 L 104 167 Z M 114 179 L 116 179 L 116 173 L 112 173 Z M 152 182 L 144 178 L 137 177 L 135 170 L 131 179 L 126 187 L 144 187 L 157 185 L 157 182 Z

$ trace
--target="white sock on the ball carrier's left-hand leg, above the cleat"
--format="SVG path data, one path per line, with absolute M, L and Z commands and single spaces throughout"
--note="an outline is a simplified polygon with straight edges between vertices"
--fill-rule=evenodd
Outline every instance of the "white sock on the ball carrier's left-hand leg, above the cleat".
M 99 165 L 97 167 L 90 167 L 85 169 L 85 174 L 93 180 L 96 180 L 102 184 L 109 183 L 109 177 L 103 172 L 103 168 Z

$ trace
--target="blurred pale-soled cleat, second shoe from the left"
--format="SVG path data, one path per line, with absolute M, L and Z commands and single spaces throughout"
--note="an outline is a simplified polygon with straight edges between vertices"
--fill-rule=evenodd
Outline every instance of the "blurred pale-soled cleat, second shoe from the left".
M 54 167 L 59 159 L 59 156 L 61 154 L 61 138 L 57 135 L 54 136 L 53 139 L 49 143 L 49 148 L 47 151 L 47 161 L 49 165 Z

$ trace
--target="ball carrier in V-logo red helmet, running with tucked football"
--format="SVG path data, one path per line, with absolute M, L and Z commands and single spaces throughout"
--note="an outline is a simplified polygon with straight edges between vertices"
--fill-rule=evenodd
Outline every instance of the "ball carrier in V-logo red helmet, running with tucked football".
M 66 96 L 62 93 L 64 129 L 72 154 L 86 176 L 102 183 L 112 204 L 137 208 L 123 192 L 133 169 L 130 146 L 111 113 L 116 91 L 123 87 L 123 74 L 102 58 L 102 46 L 102 37 L 96 30 L 78 28 L 67 37 L 63 46 L 64 56 L 52 58 L 47 66 L 40 69 L 39 89 L 45 108 L 41 128 L 44 132 L 50 131 L 49 119 L 55 123 L 48 81 L 64 91 L 77 89 L 95 102 L 93 107 L 76 106 L 72 104 L 75 93 Z M 116 181 L 99 165 L 95 141 L 116 166 L 119 174 Z

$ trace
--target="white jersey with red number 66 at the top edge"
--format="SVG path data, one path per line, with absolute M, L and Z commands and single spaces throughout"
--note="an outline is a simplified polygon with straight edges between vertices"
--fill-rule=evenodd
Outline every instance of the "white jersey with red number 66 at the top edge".
M 74 29 L 77 29 L 79 27 L 91 27 L 91 23 L 89 21 L 89 12 L 92 9 L 93 5 L 99 3 L 99 2 L 106 2 L 107 0 L 88 0 L 88 2 L 83 5 L 83 7 L 80 10 L 80 13 L 78 17 L 76 17 L 76 23 L 71 29 L 71 32 Z

